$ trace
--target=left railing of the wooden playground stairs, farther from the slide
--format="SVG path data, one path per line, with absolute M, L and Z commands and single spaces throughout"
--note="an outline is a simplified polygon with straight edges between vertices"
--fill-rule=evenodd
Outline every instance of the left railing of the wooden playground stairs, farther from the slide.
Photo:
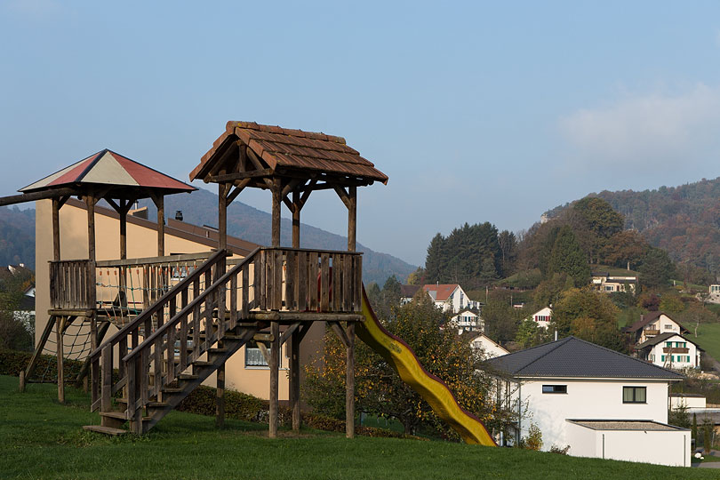
M 119 380 L 113 383 L 112 372 L 114 366 L 114 350 L 117 348 L 118 357 L 127 355 L 128 347 L 137 348 L 140 344 L 140 337 L 148 338 L 153 330 L 160 329 L 164 324 L 164 316 L 170 318 L 175 316 L 178 308 L 188 305 L 188 298 L 192 295 L 197 300 L 201 295 L 201 282 L 204 285 L 212 284 L 213 276 L 217 275 L 217 269 L 225 267 L 226 251 L 214 252 L 212 256 L 200 264 L 192 272 L 189 272 L 171 290 L 165 292 L 152 305 L 144 309 L 140 315 L 135 316 L 132 321 L 125 324 L 119 332 L 103 342 L 90 354 L 92 372 L 92 407 L 95 411 L 99 407 L 102 412 L 108 412 L 110 398 L 127 382 L 127 370 L 124 362 L 119 363 Z M 204 289 L 203 289 L 204 290 Z M 167 313 L 166 313 L 167 312 Z M 128 345 L 130 339 L 130 345 Z M 102 385 L 100 387 L 100 358 L 102 363 Z M 100 396 L 101 394 L 101 396 Z

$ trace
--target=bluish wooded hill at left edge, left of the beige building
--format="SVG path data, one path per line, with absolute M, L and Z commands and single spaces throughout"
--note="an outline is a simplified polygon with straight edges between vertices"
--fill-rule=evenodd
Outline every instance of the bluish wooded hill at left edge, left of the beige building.
M 0 265 L 35 269 L 35 209 L 0 208 Z

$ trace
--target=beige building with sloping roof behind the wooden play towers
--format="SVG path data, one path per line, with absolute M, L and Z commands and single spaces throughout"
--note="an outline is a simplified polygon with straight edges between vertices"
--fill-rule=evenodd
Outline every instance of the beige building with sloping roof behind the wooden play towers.
M 52 260 L 52 206 L 50 200 L 36 202 L 36 342 L 44 331 L 49 316 L 50 306 L 50 274 L 49 262 Z M 95 245 L 97 260 L 116 260 L 120 258 L 118 214 L 101 206 L 95 207 Z M 60 258 L 63 260 L 87 259 L 87 210 L 85 204 L 76 199 L 69 199 L 60 209 Z M 165 252 L 170 255 L 180 253 L 210 252 L 218 246 L 218 232 L 212 228 L 197 227 L 188 223 L 167 219 L 164 228 Z M 228 249 L 234 258 L 243 258 L 258 245 L 228 236 Z M 135 215 L 127 218 L 127 257 L 142 259 L 156 257 L 157 225 Z M 202 260 L 200 260 L 202 261 Z M 99 269 L 98 284 L 103 284 L 102 268 Z M 107 273 L 105 277 L 107 278 Z M 101 287 L 100 287 L 101 289 Z M 131 289 L 132 291 L 132 289 Z M 99 290 L 99 301 L 111 302 L 112 298 L 102 298 Z M 128 294 L 128 304 L 139 303 Z M 76 321 L 77 322 L 77 321 Z M 89 326 L 84 326 L 88 328 Z M 116 326 L 111 325 L 105 338 L 115 332 Z M 321 347 L 324 324 L 316 323 L 308 332 L 300 352 L 301 364 L 311 361 L 315 352 Z M 65 344 L 71 342 L 65 339 Z M 285 344 L 281 352 L 281 369 L 287 370 L 287 352 Z M 68 351 L 68 349 L 66 349 Z M 226 364 L 226 383 L 233 388 L 260 398 L 268 398 L 269 369 L 260 349 L 253 345 L 243 347 Z M 215 386 L 213 373 L 204 382 Z M 288 378 L 281 373 L 279 376 L 279 398 L 288 399 Z

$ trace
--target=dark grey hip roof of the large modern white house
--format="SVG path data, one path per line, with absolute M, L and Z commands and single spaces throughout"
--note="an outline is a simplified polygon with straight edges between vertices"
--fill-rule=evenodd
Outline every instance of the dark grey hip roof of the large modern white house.
M 567 337 L 533 348 L 498 356 L 487 363 L 516 377 L 577 377 L 681 380 L 683 375 L 600 347 Z

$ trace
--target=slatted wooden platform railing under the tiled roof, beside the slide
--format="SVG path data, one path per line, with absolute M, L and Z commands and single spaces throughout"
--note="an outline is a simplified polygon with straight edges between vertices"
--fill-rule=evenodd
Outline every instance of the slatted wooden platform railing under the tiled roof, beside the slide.
M 359 252 L 263 248 L 255 284 L 260 310 L 359 312 L 363 256 Z

